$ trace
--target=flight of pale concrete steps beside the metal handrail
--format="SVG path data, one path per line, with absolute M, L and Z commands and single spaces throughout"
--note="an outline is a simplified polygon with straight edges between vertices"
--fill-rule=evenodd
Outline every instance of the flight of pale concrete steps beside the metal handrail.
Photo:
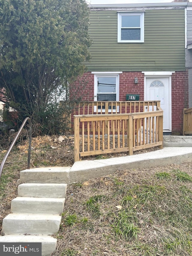
M 70 167 L 46 167 L 21 171 L 18 197 L 3 219 L 0 242 L 41 242 L 42 256 L 55 251 Z M 60 180 L 61 178 L 61 180 Z M 62 183 L 59 183 L 62 182 Z

